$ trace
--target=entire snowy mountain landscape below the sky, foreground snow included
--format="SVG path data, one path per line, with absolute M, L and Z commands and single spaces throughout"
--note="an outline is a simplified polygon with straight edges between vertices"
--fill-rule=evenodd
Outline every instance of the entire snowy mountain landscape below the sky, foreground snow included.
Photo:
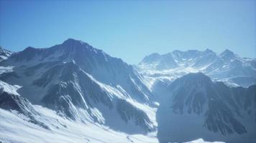
M 0 56 L 3 142 L 256 141 L 256 59 L 229 50 L 132 66 L 68 39 Z

